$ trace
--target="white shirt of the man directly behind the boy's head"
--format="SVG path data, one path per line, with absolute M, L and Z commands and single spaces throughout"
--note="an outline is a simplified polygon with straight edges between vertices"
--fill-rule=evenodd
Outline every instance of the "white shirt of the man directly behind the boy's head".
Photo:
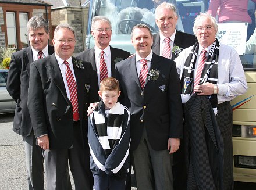
M 97 76 L 98 76 L 98 82 L 100 82 L 100 69 L 99 69 L 99 63 L 101 60 L 101 49 L 94 46 L 94 55 L 95 55 L 95 62 L 96 62 L 96 68 L 97 68 Z M 110 53 L 110 46 L 107 46 L 104 51 L 104 59 L 106 63 L 106 68 L 108 69 L 108 77 L 111 77 L 111 53 Z

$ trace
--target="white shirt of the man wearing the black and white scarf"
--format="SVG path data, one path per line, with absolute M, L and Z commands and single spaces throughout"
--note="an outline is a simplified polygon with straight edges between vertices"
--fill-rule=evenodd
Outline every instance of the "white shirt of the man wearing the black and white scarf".
M 210 45 L 207 49 L 211 49 Z M 175 59 L 177 72 L 179 76 L 182 76 L 183 67 L 187 56 L 191 52 L 193 46 L 184 49 L 180 52 L 179 56 Z M 199 47 L 199 51 L 202 51 L 202 46 Z M 207 53 L 208 55 L 208 53 Z M 246 77 L 244 76 L 243 66 L 236 50 L 228 45 L 220 44 L 219 47 L 219 64 L 218 64 L 218 104 L 224 101 L 231 101 L 238 95 L 244 94 L 247 91 Z M 195 70 L 197 69 L 198 58 L 195 63 Z M 195 73 L 194 73 L 195 74 Z M 184 99 L 182 94 L 182 103 L 186 103 L 187 99 Z

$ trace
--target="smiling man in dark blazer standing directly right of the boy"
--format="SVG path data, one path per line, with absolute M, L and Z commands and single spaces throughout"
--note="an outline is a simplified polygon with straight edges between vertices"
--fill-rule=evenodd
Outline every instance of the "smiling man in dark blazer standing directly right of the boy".
M 131 113 L 137 188 L 173 189 L 172 153 L 183 134 L 179 77 L 172 60 L 152 53 L 150 28 L 135 26 L 131 41 L 136 55 L 116 64 L 116 78 Z

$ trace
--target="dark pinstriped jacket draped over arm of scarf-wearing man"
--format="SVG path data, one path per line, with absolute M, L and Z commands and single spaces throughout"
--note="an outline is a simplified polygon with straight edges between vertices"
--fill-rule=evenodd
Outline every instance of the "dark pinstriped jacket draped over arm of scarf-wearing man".
M 187 189 L 223 189 L 223 139 L 208 96 L 194 94 L 184 107 Z

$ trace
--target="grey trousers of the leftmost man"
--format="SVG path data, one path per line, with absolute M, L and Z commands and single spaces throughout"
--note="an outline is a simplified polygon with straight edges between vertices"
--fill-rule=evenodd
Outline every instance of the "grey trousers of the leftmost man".
M 44 157 L 40 146 L 35 145 L 35 135 L 32 131 L 23 136 L 27 166 L 27 182 L 29 190 L 44 189 Z

